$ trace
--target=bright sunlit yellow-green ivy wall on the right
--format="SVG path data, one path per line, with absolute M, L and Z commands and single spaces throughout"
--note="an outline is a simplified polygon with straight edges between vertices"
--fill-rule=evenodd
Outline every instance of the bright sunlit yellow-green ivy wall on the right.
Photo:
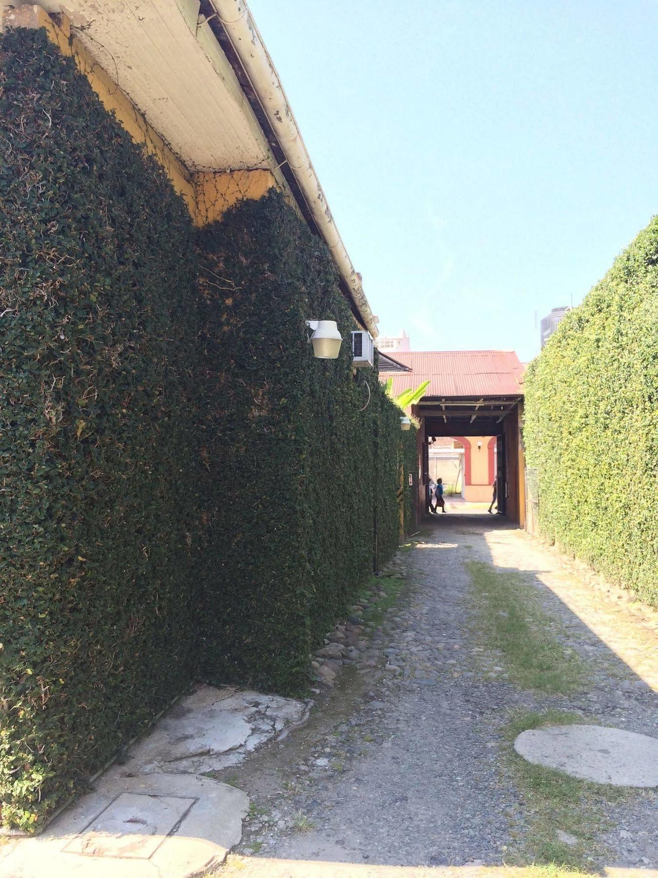
M 658 603 L 658 217 L 569 312 L 526 374 L 540 529 Z

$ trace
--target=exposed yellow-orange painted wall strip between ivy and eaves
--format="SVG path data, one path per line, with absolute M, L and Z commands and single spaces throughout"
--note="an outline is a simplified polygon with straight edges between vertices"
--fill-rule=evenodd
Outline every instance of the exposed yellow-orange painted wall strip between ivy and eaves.
M 236 170 L 218 173 L 192 173 L 170 149 L 160 134 L 152 128 L 130 98 L 95 61 L 79 40 L 71 34 L 66 15 L 55 21 L 36 4 L 6 9 L 2 13 L 3 27 L 46 28 L 48 39 L 59 47 L 62 54 L 72 57 L 81 73 L 89 80 L 104 108 L 114 112 L 118 122 L 148 155 L 160 162 L 176 192 L 185 200 L 197 226 L 218 219 L 229 207 L 245 198 L 262 198 L 276 185 L 274 174 L 268 169 Z

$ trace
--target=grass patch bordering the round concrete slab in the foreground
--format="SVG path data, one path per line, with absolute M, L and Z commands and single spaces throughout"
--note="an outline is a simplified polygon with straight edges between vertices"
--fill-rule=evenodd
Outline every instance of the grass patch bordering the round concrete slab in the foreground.
M 507 769 L 524 801 L 526 818 L 532 816 L 529 825 L 526 824 L 525 842 L 511 852 L 510 859 L 519 866 L 532 861 L 530 868 L 536 870 L 533 875 L 548 878 L 590 873 L 595 867 L 594 860 L 603 853 L 597 838 L 608 825 L 605 805 L 623 802 L 631 795 L 627 788 L 580 781 L 552 768 L 534 766 L 512 748 L 517 735 L 527 729 L 585 722 L 583 716 L 561 710 L 519 711 L 504 726 L 503 735 L 508 742 Z M 561 841 L 558 830 L 575 836 L 577 843 L 569 845 Z

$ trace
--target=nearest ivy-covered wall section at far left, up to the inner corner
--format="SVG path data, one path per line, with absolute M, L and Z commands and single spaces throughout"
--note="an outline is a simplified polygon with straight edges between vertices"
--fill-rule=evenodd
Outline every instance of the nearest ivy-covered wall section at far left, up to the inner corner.
M 0 43 L 4 823 L 197 675 L 193 229 L 44 32 Z

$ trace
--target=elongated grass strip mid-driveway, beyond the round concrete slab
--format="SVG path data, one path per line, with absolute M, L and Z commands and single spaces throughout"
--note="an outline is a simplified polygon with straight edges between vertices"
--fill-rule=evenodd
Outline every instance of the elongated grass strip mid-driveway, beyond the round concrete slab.
M 487 644 L 500 651 L 509 679 L 523 688 L 566 694 L 583 687 L 587 666 L 565 650 L 557 620 L 540 605 L 531 585 L 516 571 L 468 561 L 477 626 Z

